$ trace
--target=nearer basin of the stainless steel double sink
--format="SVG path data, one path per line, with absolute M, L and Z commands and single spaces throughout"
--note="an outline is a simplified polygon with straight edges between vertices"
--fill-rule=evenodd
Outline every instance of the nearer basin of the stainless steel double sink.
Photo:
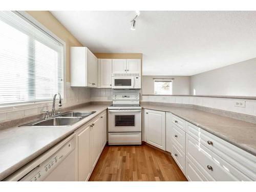
M 81 119 L 82 117 L 54 117 L 51 119 L 34 121 L 20 126 L 70 126 Z

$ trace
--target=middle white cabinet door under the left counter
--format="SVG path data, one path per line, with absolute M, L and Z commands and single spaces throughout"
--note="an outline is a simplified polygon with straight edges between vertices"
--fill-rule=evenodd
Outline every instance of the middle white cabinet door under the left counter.
M 91 126 L 91 132 L 90 132 L 90 143 L 91 143 L 91 164 L 92 168 L 95 167 L 98 156 L 100 154 L 100 144 L 101 144 L 101 138 L 100 138 L 100 120 L 97 118 L 95 121 L 93 121 Z

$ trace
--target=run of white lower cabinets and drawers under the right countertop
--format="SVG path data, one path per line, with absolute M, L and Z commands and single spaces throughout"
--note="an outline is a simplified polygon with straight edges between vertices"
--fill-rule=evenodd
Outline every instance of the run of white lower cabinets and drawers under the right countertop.
M 159 135 L 154 138 L 153 133 L 158 133 L 157 114 L 162 112 L 144 111 L 146 141 L 158 146 Z M 255 156 L 168 112 L 166 151 L 188 181 L 256 181 Z

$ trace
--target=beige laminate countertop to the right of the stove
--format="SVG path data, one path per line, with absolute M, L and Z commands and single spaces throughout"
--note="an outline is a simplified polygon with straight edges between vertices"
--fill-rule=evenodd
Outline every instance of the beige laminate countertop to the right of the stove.
M 191 108 L 141 104 L 142 108 L 170 112 L 256 156 L 256 124 Z

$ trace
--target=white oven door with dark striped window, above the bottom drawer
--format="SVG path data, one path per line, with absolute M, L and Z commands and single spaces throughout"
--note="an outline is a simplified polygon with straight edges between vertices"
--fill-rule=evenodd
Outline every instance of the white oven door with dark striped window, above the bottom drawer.
M 109 110 L 109 132 L 141 132 L 141 110 Z

